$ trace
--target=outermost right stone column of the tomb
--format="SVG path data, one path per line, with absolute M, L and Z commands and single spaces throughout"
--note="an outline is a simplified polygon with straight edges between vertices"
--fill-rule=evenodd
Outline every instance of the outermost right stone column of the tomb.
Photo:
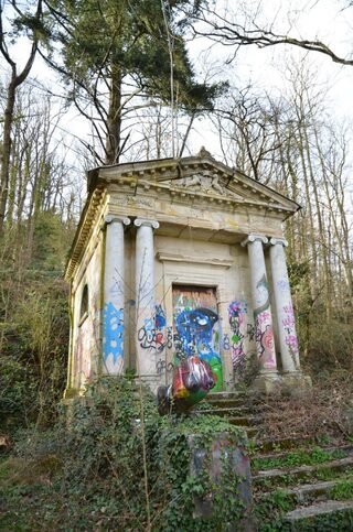
M 298 339 L 293 305 L 290 294 L 284 238 L 270 239 L 269 256 L 271 261 L 274 295 L 277 312 L 279 350 L 285 372 L 300 369 Z

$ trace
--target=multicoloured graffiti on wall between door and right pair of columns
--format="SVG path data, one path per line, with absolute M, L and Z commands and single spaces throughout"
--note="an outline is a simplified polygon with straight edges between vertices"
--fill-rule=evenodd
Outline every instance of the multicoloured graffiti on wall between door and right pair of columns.
M 247 334 L 247 324 L 245 318 L 247 315 L 247 302 L 244 300 L 233 301 L 228 306 L 228 318 L 232 330 L 232 362 L 236 369 L 245 359 L 244 340 Z

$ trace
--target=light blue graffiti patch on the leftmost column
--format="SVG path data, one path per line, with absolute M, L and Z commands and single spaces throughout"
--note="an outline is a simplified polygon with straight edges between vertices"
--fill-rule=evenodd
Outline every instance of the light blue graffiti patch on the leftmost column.
M 124 357 L 124 308 L 106 303 L 103 311 L 103 357 L 113 356 L 114 363 Z

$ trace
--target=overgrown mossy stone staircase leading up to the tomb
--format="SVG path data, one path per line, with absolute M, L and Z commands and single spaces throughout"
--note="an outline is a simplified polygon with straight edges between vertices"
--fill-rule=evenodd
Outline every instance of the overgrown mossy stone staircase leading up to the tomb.
M 254 514 L 259 531 L 353 531 L 353 442 L 266 437 L 266 401 L 216 392 L 195 415 L 227 417 L 249 438 Z

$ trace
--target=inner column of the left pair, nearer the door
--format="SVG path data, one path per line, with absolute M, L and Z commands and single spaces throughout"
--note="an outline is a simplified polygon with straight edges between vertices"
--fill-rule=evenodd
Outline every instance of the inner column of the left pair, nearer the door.
M 157 220 L 137 218 L 136 234 L 136 330 L 137 372 L 152 389 L 158 384 L 156 352 L 154 245 Z

